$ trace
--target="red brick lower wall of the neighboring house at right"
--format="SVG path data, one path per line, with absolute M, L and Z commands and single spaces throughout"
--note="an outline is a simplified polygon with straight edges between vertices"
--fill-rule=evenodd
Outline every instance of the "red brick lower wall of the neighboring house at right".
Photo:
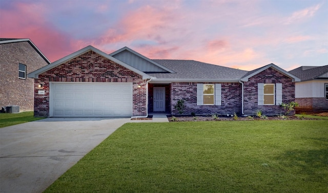
M 295 101 L 299 104 L 297 111 L 317 111 L 328 110 L 328 100 L 326 98 L 296 98 Z

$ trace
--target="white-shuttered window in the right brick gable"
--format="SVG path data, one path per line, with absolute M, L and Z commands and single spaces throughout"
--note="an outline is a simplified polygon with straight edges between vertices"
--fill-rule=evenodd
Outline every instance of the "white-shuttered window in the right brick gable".
M 282 83 L 257 84 L 258 105 L 280 105 L 282 103 Z

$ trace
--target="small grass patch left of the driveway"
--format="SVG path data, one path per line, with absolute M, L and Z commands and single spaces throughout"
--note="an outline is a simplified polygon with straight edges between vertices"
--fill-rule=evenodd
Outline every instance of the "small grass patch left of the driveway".
M 0 113 L 0 128 L 39 119 L 44 119 L 44 117 L 34 117 L 33 112 Z

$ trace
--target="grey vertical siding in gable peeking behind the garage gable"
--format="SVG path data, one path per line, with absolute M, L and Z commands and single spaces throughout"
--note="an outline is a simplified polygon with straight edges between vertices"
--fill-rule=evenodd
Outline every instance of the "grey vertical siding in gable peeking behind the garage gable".
M 159 68 L 158 66 L 147 61 L 146 59 L 141 58 L 127 50 L 117 53 L 113 57 L 121 60 L 122 62 L 127 63 L 128 65 L 142 72 L 167 72 L 166 70 Z

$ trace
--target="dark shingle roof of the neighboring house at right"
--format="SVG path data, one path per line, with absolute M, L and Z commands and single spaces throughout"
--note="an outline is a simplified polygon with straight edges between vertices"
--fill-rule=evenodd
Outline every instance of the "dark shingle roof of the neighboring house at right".
M 323 75 L 328 73 L 328 65 L 322 67 L 302 66 L 289 71 L 291 74 L 299 77 L 301 81 L 313 80 L 318 78 L 327 78 Z

